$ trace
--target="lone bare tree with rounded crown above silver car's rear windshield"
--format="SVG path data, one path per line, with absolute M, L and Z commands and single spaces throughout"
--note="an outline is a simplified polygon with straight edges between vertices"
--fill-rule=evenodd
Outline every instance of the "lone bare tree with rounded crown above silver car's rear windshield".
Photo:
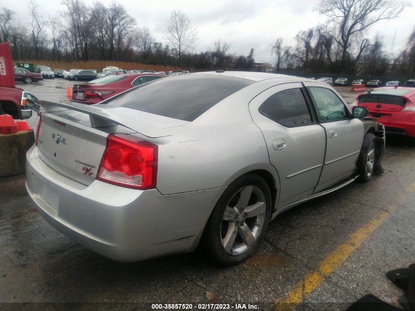
M 167 19 L 164 36 L 176 49 L 180 67 L 182 54 L 192 48 L 197 40 L 196 29 L 192 27 L 192 22 L 184 12 L 174 10 Z

